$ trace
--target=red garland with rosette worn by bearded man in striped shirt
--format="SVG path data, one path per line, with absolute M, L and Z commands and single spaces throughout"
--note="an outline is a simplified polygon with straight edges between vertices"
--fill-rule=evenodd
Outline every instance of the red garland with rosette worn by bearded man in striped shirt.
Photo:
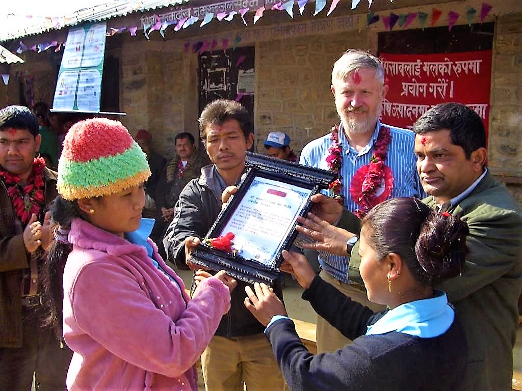
M 330 140 L 331 146 L 328 149 L 330 155 L 326 157 L 326 162 L 331 172 L 339 174 L 342 163 L 342 145 L 339 144 L 339 128 L 337 126 L 332 128 Z M 383 202 L 392 194 L 393 173 L 384 164 L 390 141 L 392 141 L 392 136 L 389 128 L 381 125 L 377 141 L 373 146 L 370 164 L 359 168 L 350 182 L 350 196 L 359 205 L 359 209 L 356 209 L 353 213 L 359 218 L 364 217 L 372 207 Z M 343 197 L 340 194 L 342 190 L 341 176 L 330 184 L 329 189 L 334 194 L 333 197 L 342 203 Z

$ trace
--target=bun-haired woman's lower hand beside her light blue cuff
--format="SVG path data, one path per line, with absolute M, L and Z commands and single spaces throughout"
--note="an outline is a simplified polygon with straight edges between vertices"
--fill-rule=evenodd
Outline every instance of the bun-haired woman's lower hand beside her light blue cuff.
M 274 289 L 265 283 L 255 283 L 254 290 L 255 293 L 250 286 L 245 287 L 245 307 L 260 323 L 266 326 L 274 315 L 288 316 L 283 303 L 274 294 Z

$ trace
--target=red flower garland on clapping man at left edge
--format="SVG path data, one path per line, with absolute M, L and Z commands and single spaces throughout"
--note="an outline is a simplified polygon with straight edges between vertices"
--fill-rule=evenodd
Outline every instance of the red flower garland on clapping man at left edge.
M 45 203 L 43 193 L 43 168 L 45 161 L 43 157 L 37 157 L 33 161 L 32 173 L 27 179 L 25 186 L 18 185 L 20 178 L 18 175 L 10 174 L 6 170 L 0 170 L 0 176 L 4 178 L 7 185 L 7 193 L 13 203 L 16 215 L 20 218 L 22 225 L 25 226 L 34 213 L 39 215 Z

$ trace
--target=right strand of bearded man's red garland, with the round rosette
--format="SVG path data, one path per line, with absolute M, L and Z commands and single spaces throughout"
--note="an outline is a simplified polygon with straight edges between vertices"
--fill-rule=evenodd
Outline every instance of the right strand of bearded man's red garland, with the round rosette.
M 353 212 L 359 218 L 364 217 L 372 207 L 392 194 L 393 173 L 384 164 L 390 141 L 392 136 L 389 128 L 381 125 L 370 164 L 359 168 L 352 178 L 350 196 L 360 206 L 360 209 Z

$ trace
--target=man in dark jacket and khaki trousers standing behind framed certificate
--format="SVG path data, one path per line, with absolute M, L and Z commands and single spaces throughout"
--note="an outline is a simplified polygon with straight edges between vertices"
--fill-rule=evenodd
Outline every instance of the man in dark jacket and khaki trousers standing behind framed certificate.
M 199 117 L 199 130 L 213 164 L 183 189 L 173 221 L 163 240 L 168 260 L 185 264 L 185 238 L 203 238 L 221 210 L 221 193 L 236 185 L 245 168 L 246 151 L 254 142 L 250 116 L 239 103 L 217 100 Z M 279 283 L 274 287 L 282 299 Z M 263 331 L 265 327 L 244 306 L 246 283 L 232 291 L 230 311 L 223 316 L 201 356 L 205 387 L 212 391 L 246 389 L 277 391 L 284 381 Z

